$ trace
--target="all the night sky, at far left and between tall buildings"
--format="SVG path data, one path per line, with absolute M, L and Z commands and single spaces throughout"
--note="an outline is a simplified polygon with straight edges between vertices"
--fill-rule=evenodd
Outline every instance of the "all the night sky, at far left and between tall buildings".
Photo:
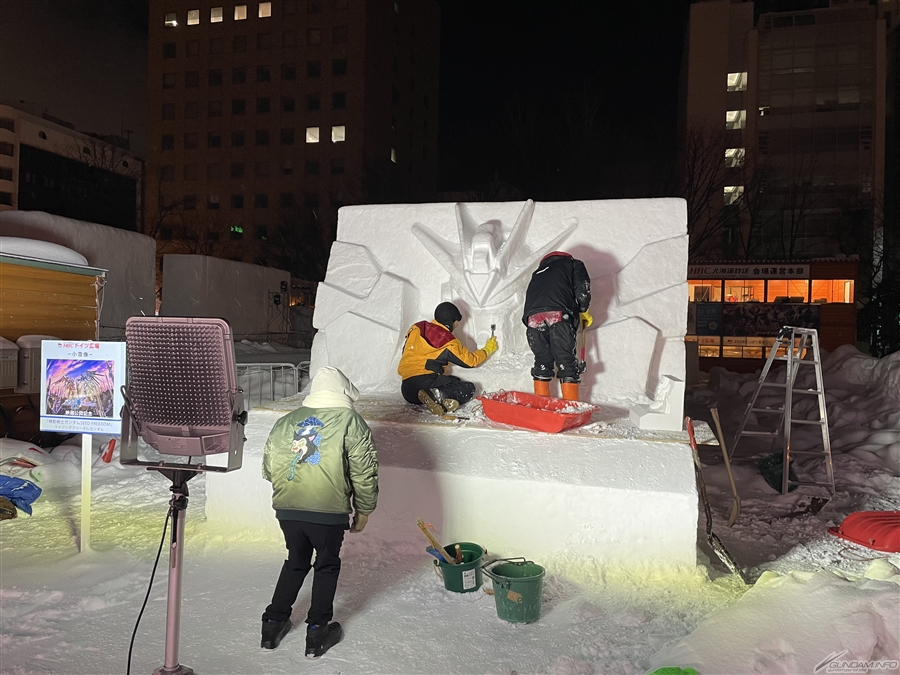
M 509 154 L 499 143 L 509 111 L 523 102 L 555 142 L 553 120 L 585 86 L 603 101 L 602 133 L 629 148 L 601 162 L 616 170 L 671 163 L 689 0 L 438 1 L 439 190 L 484 189 Z M 142 153 L 147 7 L 2 0 L 0 95 L 46 107 L 81 130 L 132 129 Z

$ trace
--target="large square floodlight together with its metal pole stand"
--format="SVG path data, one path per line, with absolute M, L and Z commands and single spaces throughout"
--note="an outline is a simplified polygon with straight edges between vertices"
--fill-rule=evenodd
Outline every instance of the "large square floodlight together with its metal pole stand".
M 233 336 L 224 319 L 133 316 L 125 322 L 125 339 L 128 384 L 119 461 L 159 471 L 172 481 L 166 660 L 153 675 L 193 675 L 178 663 L 187 482 L 200 472 L 241 467 L 247 411 L 237 386 Z M 159 458 L 141 456 L 140 441 Z M 225 465 L 209 463 L 209 456 Z M 128 658 L 130 669 L 131 652 Z

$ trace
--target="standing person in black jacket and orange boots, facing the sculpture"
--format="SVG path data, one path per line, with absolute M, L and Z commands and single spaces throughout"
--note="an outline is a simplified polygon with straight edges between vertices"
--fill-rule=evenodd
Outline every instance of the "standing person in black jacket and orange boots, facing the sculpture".
M 534 393 L 550 395 L 554 366 L 562 397 L 578 400 L 581 372 L 575 357 L 575 334 L 593 323 L 589 311 L 591 278 L 584 263 L 568 253 L 553 251 L 545 255 L 531 275 L 525 292 L 528 346 L 534 353 Z

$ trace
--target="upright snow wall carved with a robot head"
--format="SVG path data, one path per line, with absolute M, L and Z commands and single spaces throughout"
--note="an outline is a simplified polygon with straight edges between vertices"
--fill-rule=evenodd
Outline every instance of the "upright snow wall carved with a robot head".
M 687 220 L 681 199 L 349 206 L 313 318 L 311 373 L 340 368 L 369 394 L 399 395 L 409 326 L 443 301 L 470 349 L 497 325 L 499 351 L 455 374 L 482 389 L 531 389 L 525 289 L 541 257 L 563 250 L 591 275 L 581 397 L 647 402 L 663 375 L 685 376 Z

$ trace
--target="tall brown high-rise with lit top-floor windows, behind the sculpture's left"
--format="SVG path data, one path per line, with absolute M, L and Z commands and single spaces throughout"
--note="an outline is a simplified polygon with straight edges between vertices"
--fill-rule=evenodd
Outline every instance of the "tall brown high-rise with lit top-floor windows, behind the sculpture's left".
M 436 0 L 151 0 L 147 230 L 321 278 L 344 204 L 435 191 Z

